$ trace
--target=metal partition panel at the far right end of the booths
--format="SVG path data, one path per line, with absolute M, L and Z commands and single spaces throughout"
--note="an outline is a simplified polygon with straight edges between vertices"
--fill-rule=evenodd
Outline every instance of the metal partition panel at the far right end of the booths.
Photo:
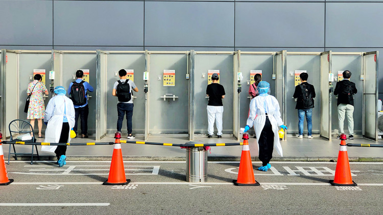
M 363 137 L 374 141 L 378 140 L 378 55 L 378 51 L 373 51 L 363 56 Z

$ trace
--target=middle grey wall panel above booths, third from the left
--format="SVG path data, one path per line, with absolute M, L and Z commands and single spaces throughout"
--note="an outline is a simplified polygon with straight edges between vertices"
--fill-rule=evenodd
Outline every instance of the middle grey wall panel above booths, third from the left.
M 234 3 L 146 2 L 145 45 L 234 46 Z

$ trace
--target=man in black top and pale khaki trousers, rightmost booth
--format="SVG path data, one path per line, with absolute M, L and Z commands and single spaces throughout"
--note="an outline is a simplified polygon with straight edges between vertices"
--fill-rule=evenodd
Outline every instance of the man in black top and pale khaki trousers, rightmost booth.
M 347 115 L 348 131 L 350 136 L 348 139 L 354 139 L 354 98 L 353 95 L 357 93 L 355 83 L 350 82 L 351 72 L 346 70 L 343 72 L 343 80 L 337 83 L 337 86 L 334 90 L 334 95 L 338 95 L 338 122 L 339 122 L 339 136 L 337 139 L 341 138 L 341 134 L 344 133 L 343 123 L 344 116 Z

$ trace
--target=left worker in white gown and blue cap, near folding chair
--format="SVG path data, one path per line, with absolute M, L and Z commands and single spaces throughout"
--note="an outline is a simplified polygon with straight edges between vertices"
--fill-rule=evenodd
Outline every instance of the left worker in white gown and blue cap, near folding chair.
M 45 143 L 69 143 L 71 128 L 75 125 L 75 107 L 70 98 L 66 97 L 65 88 L 58 86 L 54 90 L 55 97 L 46 106 L 44 123 Z M 55 152 L 59 167 L 66 164 L 65 146 L 42 146 L 42 151 Z

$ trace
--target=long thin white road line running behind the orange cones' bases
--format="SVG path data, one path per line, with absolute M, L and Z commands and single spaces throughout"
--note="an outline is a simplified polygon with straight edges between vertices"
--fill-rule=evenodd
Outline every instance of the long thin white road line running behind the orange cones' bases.
M 71 184 L 71 185 L 93 185 L 102 184 L 103 182 L 13 182 L 10 185 L 41 185 L 41 184 Z M 134 184 L 149 185 L 233 185 L 232 182 L 134 182 Z M 331 185 L 330 183 L 290 183 L 290 182 L 260 182 L 261 185 Z M 383 186 L 383 183 L 358 183 L 358 186 Z

